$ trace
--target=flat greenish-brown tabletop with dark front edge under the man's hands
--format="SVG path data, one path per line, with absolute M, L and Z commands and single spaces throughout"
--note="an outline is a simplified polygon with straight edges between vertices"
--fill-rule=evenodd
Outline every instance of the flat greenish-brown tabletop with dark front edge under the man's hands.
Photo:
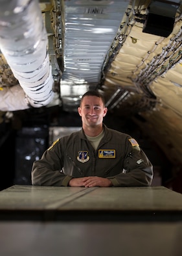
M 14 185 L 0 192 L 0 220 L 182 221 L 182 194 L 164 186 Z

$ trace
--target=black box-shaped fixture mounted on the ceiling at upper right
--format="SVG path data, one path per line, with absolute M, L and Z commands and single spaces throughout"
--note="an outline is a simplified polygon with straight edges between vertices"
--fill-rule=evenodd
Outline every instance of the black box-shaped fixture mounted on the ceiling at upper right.
M 174 28 L 180 1 L 152 1 L 147 8 L 142 32 L 168 37 Z

